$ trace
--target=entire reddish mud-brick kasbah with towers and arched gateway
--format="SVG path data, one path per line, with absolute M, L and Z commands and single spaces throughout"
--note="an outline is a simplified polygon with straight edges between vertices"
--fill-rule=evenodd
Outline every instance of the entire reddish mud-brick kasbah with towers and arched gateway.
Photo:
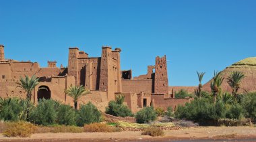
M 133 112 L 150 105 L 174 109 L 177 104 L 189 101 L 189 98 L 175 98 L 173 90 L 168 90 L 166 56 L 156 57 L 156 64 L 148 66 L 147 74 L 133 78 L 132 70 L 121 70 L 120 48 L 112 50 L 103 46 L 100 57 L 89 57 L 78 48 L 69 48 L 67 68 L 62 65 L 58 68 L 56 61 L 49 61 L 46 68 L 41 68 L 37 62 L 5 59 L 4 48 L 0 45 L 1 97 L 25 97 L 17 82 L 20 77 L 35 75 L 40 78 L 33 92 L 35 103 L 40 98 L 53 98 L 73 105 L 64 90 L 74 85 L 91 91 L 81 103 L 91 101 L 102 111 L 117 94 L 125 95 L 125 102 Z

